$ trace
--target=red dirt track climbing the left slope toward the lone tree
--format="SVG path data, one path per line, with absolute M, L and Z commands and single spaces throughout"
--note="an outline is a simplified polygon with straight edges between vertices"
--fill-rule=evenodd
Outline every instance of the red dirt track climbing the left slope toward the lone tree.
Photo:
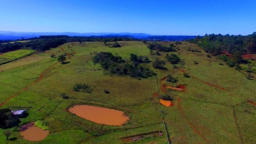
M 64 50 L 63 48 L 60 48 L 60 49 L 65 53 L 65 50 Z M 67 53 L 67 55 L 68 55 L 69 58 L 71 57 L 70 54 Z M 46 73 L 46 71 L 49 70 L 49 69 L 51 69 L 53 66 L 55 66 L 55 65 L 58 64 L 58 63 L 59 63 L 59 62 L 56 62 L 56 63 L 54 63 L 53 65 L 49 66 L 48 68 L 44 69 L 44 70 L 42 71 L 42 73 L 40 74 L 39 78 L 38 78 L 36 81 L 34 81 L 32 84 L 26 86 L 26 87 L 23 88 L 22 90 L 18 91 L 16 94 L 12 95 L 11 97 L 7 98 L 7 100 L 5 100 L 3 103 L 0 104 L 0 107 L 3 106 L 3 105 L 5 105 L 6 102 L 10 101 L 12 98 L 14 98 L 15 96 L 19 95 L 21 92 L 26 91 L 27 89 L 29 89 L 29 88 L 30 88 L 31 86 L 33 86 L 34 84 L 36 84 L 37 82 L 41 81 L 41 80 L 44 78 L 44 74 Z

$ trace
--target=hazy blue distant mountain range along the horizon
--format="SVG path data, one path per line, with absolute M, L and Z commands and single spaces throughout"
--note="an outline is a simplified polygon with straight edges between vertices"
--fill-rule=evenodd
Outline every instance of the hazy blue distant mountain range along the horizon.
M 13 32 L 13 31 L 0 31 L 0 40 L 16 40 L 22 38 L 32 38 L 39 36 L 97 36 L 97 37 L 130 37 L 146 39 L 150 41 L 183 41 L 185 39 L 192 39 L 196 36 L 154 36 L 146 33 L 76 33 L 76 32 Z

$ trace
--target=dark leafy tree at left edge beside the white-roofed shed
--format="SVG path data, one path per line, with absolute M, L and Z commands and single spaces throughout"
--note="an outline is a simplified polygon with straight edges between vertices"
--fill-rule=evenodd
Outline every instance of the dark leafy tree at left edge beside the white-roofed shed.
M 20 123 L 18 119 L 9 109 L 0 110 L 0 128 L 10 128 Z

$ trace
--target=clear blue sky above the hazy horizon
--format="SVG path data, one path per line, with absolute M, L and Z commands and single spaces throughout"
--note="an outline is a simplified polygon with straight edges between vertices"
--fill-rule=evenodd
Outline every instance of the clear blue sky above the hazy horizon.
M 159 35 L 256 31 L 256 0 L 1 0 L 0 31 Z

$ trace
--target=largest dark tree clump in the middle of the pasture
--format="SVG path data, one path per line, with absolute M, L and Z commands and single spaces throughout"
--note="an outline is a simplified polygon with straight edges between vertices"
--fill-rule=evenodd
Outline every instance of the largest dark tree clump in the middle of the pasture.
M 118 55 L 113 55 L 110 52 L 100 52 L 95 55 L 94 63 L 99 63 L 103 69 L 108 70 L 111 74 L 129 75 L 135 78 L 146 78 L 154 75 L 153 70 L 138 62 L 137 55 L 131 54 L 131 57 L 131 62 L 126 62 Z

